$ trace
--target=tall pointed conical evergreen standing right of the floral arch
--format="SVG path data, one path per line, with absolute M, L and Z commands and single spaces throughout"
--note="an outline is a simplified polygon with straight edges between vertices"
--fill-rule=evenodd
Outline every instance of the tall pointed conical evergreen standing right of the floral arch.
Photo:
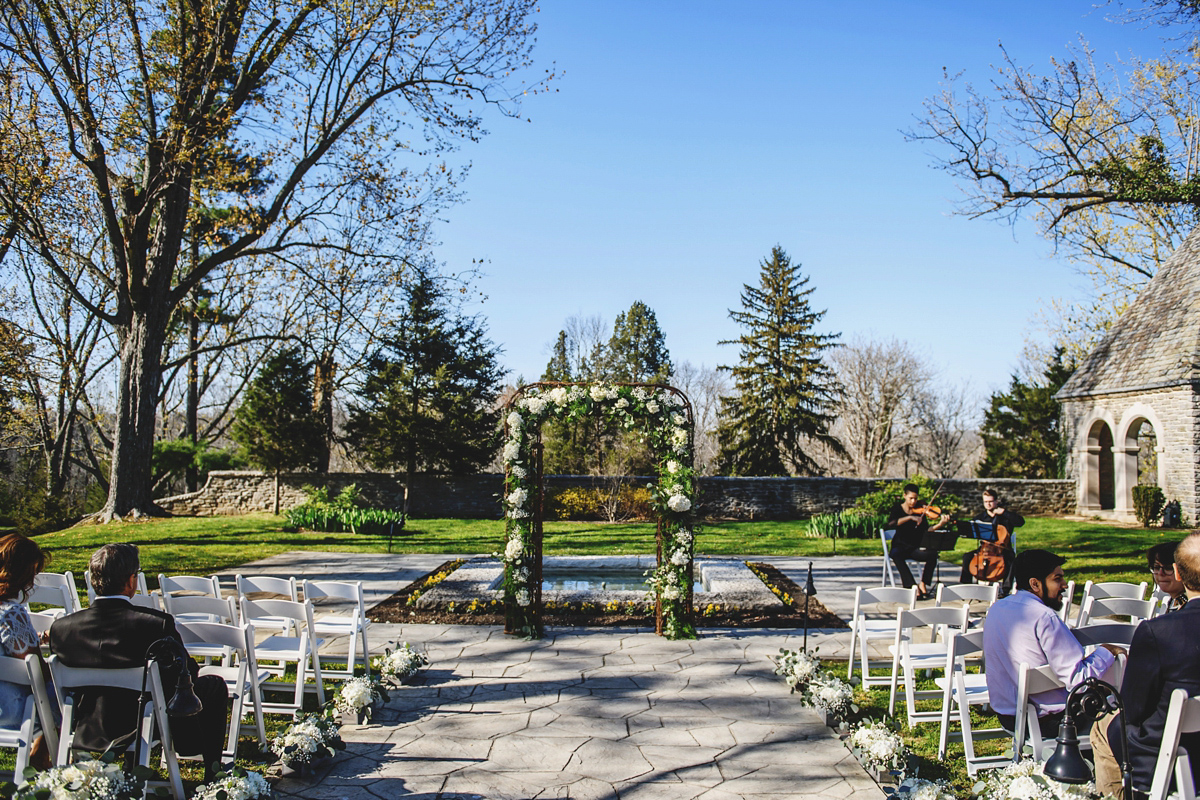
M 740 362 L 721 367 L 733 375 L 736 393 L 721 398 L 718 468 L 727 475 L 816 473 L 805 452 L 809 441 L 835 451 L 829 434 L 838 383 L 823 354 L 840 336 L 816 333 L 823 311 L 809 306 L 812 288 L 779 246 L 762 263 L 757 287 L 745 284 L 742 311 L 730 318 L 745 329 L 737 339 Z

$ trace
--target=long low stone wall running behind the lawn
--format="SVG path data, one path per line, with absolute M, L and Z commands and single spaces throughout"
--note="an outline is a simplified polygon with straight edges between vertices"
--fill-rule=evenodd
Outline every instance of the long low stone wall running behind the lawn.
M 595 486 L 596 480 L 586 475 L 547 475 L 546 491 Z M 632 480 L 646 483 L 653 479 Z M 330 494 L 336 494 L 349 483 L 373 506 L 398 509 L 403 503 L 402 475 L 306 473 L 280 476 L 280 507 L 304 503 L 306 486 L 328 486 Z M 1062 515 L 1075 510 L 1074 481 L 946 481 L 943 492 L 959 495 L 974 512 L 982 509 L 979 494 L 985 486 L 994 487 L 1007 505 L 1021 513 Z M 700 481 L 698 510 L 704 516 L 726 519 L 803 519 L 840 511 L 874 488 L 874 480 L 850 477 L 706 477 Z M 500 489 L 499 475 L 419 475 L 413 482 L 409 511 L 415 517 L 497 519 Z M 208 517 L 271 511 L 274 500 L 275 480 L 270 474 L 214 471 L 199 492 L 164 498 L 158 504 L 172 513 Z

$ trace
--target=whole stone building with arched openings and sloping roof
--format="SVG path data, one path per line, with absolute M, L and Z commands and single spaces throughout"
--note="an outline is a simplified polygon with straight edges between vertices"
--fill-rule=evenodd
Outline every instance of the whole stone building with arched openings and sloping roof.
M 1171 254 L 1057 395 L 1082 515 L 1133 519 L 1157 483 L 1200 515 L 1200 229 Z

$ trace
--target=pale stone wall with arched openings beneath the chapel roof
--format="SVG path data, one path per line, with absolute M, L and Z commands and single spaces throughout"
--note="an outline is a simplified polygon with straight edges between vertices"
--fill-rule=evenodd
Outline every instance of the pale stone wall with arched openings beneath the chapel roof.
M 1076 509 L 1100 511 L 1099 461 L 1112 458 L 1112 516 L 1133 517 L 1136 475 L 1136 428 L 1147 420 L 1154 428 L 1158 486 L 1168 500 L 1178 500 L 1183 518 L 1200 516 L 1200 393 L 1190 385 L 1146 391 L 1112 392 L 1097 397 L 1070 397 L 1062 403 L 1067 438 L 1067 474 L 1078 479 Z M 1094 434 L 1099 423 L 1112 434 L 1112 452 L 1102 452 Z

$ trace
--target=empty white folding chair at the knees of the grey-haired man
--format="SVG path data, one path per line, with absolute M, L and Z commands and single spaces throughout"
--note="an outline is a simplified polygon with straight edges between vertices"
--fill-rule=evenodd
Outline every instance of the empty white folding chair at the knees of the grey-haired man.
M 204 597 L 203 600 L 216 600 Z M 217 675 L 226 682 L 233 698 L 229 715 L 229 735 L 226 739 L 224 757 L 238 754 L 238 738 L 248 728 L 258 736 L 259 745 L 266 745 L 266 726 L 263 722 L 263 684 L 271 673 L 258 667 L 254 654 L 254 628 L 250 625 L 224 625 L 220 622 L 180 622 L 179 636 L 191 651 L 193 645 L 221 648 L 228 655 L 224 663 L 200 667 L 202 675 Z M 242 724 L 242 717 L 253 715 L 252 724 Z

